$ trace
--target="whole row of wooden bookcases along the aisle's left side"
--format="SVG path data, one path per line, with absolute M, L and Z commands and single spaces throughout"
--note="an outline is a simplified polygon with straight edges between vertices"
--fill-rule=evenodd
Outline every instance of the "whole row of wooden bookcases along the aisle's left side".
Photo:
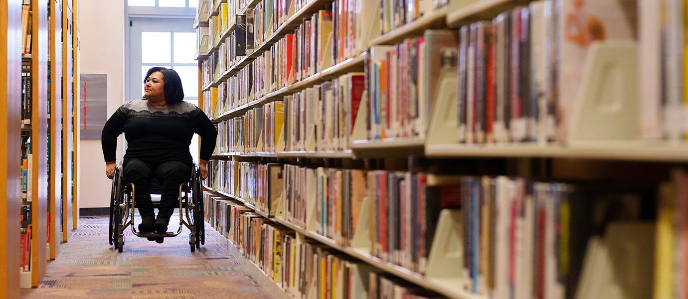
M 0 31 L 6 34 L 2 38 L 6 45 L 0 49 L 0 76 L 7 84 L 0 93 L 6 124 L 0 167 L 5 205 L 0 244 L 6 248 L 0 258 L 3 298 L 18 298 L 20 288 L 38 287 L 45 277 L 46 261 L 56 258 L 61 242 L 66 241 L 63 236 L 71 230 L 59 224 L 67 214 L 61 199 L 69 200 L 63 194 L 61 168 L 67 154 L 60 141 L 67 102 L 62 78 L 71 69 L 63 56 L 66 43 L 60 41 L 66 31 L 67 2 L 0 4 Z M 32 30 L 25 34 L 22 27 Z

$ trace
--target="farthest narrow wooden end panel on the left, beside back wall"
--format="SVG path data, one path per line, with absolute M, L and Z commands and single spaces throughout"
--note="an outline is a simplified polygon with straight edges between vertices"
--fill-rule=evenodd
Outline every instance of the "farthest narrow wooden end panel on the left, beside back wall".
M 74 146 L 74 168 L 72 171 L 74 172 L 74 181 L 72 182 L 72 196 L 74 198 L 74 201 L 72 201 L 72 229 L 76 230 L 76 227 L 79 224 L 79 27 L 78 27 L 78 2 L 77 0 L 72 0 L 74 3 L 72 3 L 72 20 L 74 21 L 74 36 L 72 36 L 72 45 L 74 46 L 74 51 L 72 54 L 74 55 L 73 63 L 74 63 L 74 71 L 72 74 L 74 75 L 74 102 L 72 103 L 74 105 L 74 131 L 72 132 L 74 134 L 74 140 L 73 140 L 73 146 Z

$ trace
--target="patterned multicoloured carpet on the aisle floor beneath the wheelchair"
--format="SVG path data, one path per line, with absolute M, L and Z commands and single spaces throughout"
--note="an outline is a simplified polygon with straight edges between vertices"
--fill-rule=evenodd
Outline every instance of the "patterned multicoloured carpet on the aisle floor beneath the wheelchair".
M 22 298 L 288 298 L 212 228 L 193 254 L 186 228 L 162 244 L 127 230 L 120 254 L 107 243 L 107 222 L 82 218 L 41 286 L 23 290 Z M 177 223 L 172 219 L 169 230 Z

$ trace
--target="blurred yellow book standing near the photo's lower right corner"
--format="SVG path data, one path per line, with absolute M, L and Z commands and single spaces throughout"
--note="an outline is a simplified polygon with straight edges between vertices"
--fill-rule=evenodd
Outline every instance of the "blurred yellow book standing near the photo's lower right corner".
M 655 236 L 655 299 L 674 298 L 674 186 L 662 184 L 659 189 Z

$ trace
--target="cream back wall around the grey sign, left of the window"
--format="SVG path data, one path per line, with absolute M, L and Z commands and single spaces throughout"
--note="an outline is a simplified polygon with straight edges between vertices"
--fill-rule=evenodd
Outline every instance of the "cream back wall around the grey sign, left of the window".
M 124 102 L 125 5 L 124 0 L 78 1 L 80 61 L 82 74 L 107 74 L 107 115 Z M 76 107 L 75 107 L 76 108 Z M 122 141 L 118 142 L 118 161 Z M 105 177 L 100 140 L 79 143 L 79 208 L 107 208 L 111 181 Z

